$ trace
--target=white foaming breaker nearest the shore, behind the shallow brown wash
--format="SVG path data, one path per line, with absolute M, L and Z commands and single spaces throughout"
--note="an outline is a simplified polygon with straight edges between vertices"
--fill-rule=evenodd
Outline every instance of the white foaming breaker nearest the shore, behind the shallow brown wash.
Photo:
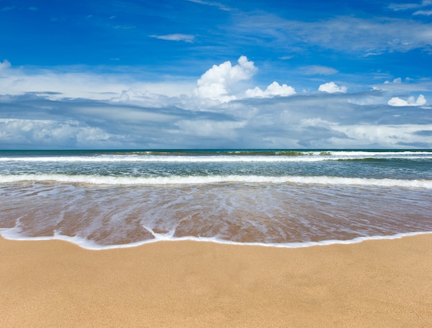
M 22 174 L 0 175 L 0 183 L 17 182 L 61 182 L 108 185 L 169 185 L 169 184 L 321 184 L 382 186 L 432 189 L 432 180 L 371 179 L 360 177 L 330 176 L 264 176 L 264 175 L 190 175 L 169 177 L 114 177 L 103 175 Z

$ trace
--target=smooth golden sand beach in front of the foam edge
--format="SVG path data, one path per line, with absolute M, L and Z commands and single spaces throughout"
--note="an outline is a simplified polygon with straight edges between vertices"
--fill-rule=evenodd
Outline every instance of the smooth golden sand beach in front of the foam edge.
M 432 327 L 432 235 L 303 249 L 0 239 L 1 327 Z

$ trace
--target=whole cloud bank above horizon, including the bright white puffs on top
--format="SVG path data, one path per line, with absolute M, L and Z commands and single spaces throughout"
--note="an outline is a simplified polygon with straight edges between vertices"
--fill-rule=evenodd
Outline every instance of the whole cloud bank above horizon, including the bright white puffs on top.
M 6 78 L 0 78 L 0 147 L 432 147 L 432 117 L 422 106 L 423 95 L 429 97 L 431 90 L 429 79 L 392 78 L 380 90 L 349 94 L 329 82 L 320 86 L 322 93 L 273 97 L 295 90 L 276 81 L 265 90 L 241 89 L 241 82 L 256 71 L 244 56 L 235 64 L 211 67 L 198 81 L 171 84 L 114 74 L 8 68 L 1 72 Z M 419 93 L 418 99 L 393 97 Z M 387 104 L 391 97 L 394 104 Z M 418 106 L 416 115 L 406 106 Z

